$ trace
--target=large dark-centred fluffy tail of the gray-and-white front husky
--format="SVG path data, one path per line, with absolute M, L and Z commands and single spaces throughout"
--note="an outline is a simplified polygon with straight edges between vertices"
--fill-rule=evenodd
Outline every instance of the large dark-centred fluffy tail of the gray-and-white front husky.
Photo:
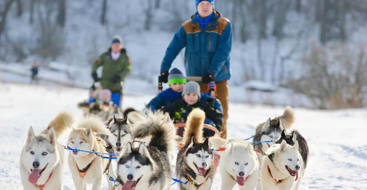
M 146 115 L 136 115 L 131 127 L 133 138 L 151 136 L 149 146 L 156 147 L 159 151 L 174 153 L 176 150 L 176 129 L 168 115 L 161 111 L 148 110 Z

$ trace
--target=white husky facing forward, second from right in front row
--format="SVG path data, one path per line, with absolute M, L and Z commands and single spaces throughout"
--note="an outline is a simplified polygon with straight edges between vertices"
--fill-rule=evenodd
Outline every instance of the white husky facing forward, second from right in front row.
M 260 163 L 252 145 L 244 140 L 220 137 L 212 137 L 209 141 L 215 148 L 227 147 L 225 151 L 217 152 L 221 156 L 222 190 L 233 189 L 236 183 L 240 190 L 255 189 L 260 177 Z

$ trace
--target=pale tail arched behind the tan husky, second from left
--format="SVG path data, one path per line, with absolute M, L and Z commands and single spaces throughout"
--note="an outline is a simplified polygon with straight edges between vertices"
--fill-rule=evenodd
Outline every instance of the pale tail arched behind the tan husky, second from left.
M 102 118 L 98 117 L 98 115 L 90 114 L 84 118 L 76 128 L 87 128 L 87 126 L 91 126 L 92 132 L 96 132 L 98 134 L 110 135 L 111 132 L 106 128 L 105 122 Z

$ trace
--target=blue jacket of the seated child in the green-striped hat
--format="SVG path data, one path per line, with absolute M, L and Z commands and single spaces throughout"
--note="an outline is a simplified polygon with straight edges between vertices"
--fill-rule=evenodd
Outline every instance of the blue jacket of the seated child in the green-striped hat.
M 150 100 L 150 102 L 146 105 L 146 108 L 151 109 L 153 111 L 161 109 L 162 106 L 168 106 L 175 99 L 182 98 L 181 92 L 176 92 L 172 90 L 172 88 L 167 88 L 166 90 L 160 92 L 155 98 Z M 214 99 L 208 93 L 201 93 L 200 101 L 206 101 L 207 99 Z M 214 108 L 223 113 L 223 107 L 221 102 L 218 99 L 214 99 Z

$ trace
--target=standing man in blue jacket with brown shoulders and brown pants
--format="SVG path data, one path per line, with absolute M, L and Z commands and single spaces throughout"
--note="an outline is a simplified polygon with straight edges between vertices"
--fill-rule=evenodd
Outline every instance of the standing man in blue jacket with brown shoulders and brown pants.
M 217 98 L 224 112 L 221 137 L 227 137 L 229 54 L 232 48 L 232 27 L 228 19 L 214 10 L 214 0 L 196 0 L 197 12 L 175 33 L 161 64 L 161 78 L 168 80 L 168 70 L 183 47 L 187 76 L 202 77 L 200 91 L 215 81 Z

